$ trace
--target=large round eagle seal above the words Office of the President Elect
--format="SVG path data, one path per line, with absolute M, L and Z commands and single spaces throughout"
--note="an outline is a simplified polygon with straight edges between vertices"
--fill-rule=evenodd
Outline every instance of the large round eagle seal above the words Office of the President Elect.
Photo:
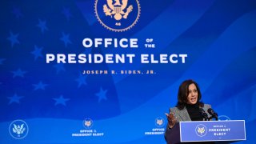
M 94 11 L 98 22 L 115 32 L 129 30 L 140 16 L 138 0 L 96 0 Z

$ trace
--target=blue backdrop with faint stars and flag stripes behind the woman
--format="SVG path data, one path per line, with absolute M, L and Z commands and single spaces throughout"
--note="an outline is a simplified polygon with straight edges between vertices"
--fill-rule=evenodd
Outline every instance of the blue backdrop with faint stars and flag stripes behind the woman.
M 189 78 L 220 119 L 246 120 L 247 140 L 241 143 L 255 143 L 256 1 L 129 2 L 127 22 L 117 21 L 130 26 L 126 30 L 107 23 L 114 15 L 102 11 L 106 1 L 2 2 L 0 143 L 165 143 L 165 113 L 177 102 L 179 84 Z M 138 48 L 85 48 L 84 38 L 136 38 Z M 136 58 L 133 63 L 47 63 L 46 54 Z M 146 64 L 141 54 L 187 57 Z M 83 74 L 86 70 L 108 74 Z

